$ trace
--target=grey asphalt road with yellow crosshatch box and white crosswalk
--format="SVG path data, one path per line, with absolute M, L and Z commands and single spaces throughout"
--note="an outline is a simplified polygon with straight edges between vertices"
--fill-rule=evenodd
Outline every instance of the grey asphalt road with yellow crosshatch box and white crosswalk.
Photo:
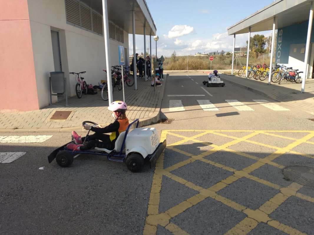
M 313 188 L 282 175 L 314 167 L 313 116 L 179 75 L 164 84 L 168 121 L 151 125 L 168 145 L 155 170 L 135 174 L 93 155 L 61 168 L 47 155 L 70 133 L 0 133 L 51 135 L 0 143 L 0 152 L 25 153 L 0 163 L 0 234 L 314 234 Z

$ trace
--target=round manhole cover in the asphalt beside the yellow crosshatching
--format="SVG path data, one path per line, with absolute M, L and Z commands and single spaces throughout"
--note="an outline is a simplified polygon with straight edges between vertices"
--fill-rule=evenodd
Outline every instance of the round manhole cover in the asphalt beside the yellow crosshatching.
M 301 185 L 314 187 L 314 168 L 308 166 L 287 166 L 282 170 L 285 178 Z

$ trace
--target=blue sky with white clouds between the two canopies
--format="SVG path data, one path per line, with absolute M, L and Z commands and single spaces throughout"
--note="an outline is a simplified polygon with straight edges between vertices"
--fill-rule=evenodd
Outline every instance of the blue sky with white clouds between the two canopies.
M 159 36 L 159 57 L 170 56 L 174 50 L 177 55 L 231 51 L 233 36 L 228 36 L 227 27 L 273 3 L 273 0 L 146 0 L 146 3 Z M 266 36 L 270 31 L 258 34 Z M 247 37 L 247 34 L 236 35 L 236 47 L 245 46 Z M 146 42 L 148 47 L 149 36 Z M 132 55 L 132 34 L 129 34 L 129 48 Z M 155 41 L 152 39 L 152 54 L 155 54 L 153 51 Z M 143 35 L 136 35 L 136 52 L 144 52 Z

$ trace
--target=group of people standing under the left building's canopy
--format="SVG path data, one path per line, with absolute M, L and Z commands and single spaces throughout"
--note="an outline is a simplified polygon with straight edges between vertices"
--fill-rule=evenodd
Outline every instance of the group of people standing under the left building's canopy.
M 147 76 L 147 80 L 152 76 L 152 66 L 150 64 L 150 57 L 149 56 L 146 56 L 146 58 L 141 58 L 141 57 L 138 57 L 138 53 L 136 53 L 136 67 L 137 67 L 137 70 L 138 70 L 138 74 L 139 74 L 139 77 L 145 77 L 145 63 L 146 63 L 146 76 Z M 156 70 L 156 73 L 159 73 L 160 74 L 160 79 L 164 79 L 164 76 L 163 76 L 163 67 L 162 67 L 162 61 L 159 61 L 157 59 L 157 62 L 158 62 L 158 65 L 159 65 L 159 68 L 158 69 L 155 69 Z M 134 66 L 134 57 L 133 57 L 133 60 L 132 60 L 132 64 L 131 64 L 131 71 L 133 71 L 133 66 Z

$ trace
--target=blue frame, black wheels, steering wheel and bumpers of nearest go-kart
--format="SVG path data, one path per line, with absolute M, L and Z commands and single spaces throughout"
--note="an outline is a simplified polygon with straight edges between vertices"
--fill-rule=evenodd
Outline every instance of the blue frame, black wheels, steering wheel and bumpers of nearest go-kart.
M 85 121 L 83 122 L 83 125 L 85 125 L 85 123 L 93 123 L 93 122 Z M 122 146 L 119 152 L 116 152 L 116 150 L 112 150 L 110 153 L 106 153 L 104 151 L 96 151 L 95 149 L 89 149 L 85 151 L 73 151 L 72 149 L 67 149 L 66 147 L 67 144 L 73 143 L 73 140 L 72 140 L 71 142 L 64 144 L 61 147 L 53 150 L 51 154 L 48 155 L 48 162 L 51 163 L 55 158 L 57 158 L 56 161 L 58 165 L 60 165 L 61 167 L 68 167 L 73 163 L 74 158 L 76 158 L 80 154 L 93 154 L 93 155 L 105 156 L 110 161 L 126 162 L 126 159 L 128 156 L 125 153 L 123 153 L 123 149 L 125 148 L 125 141 L 126 141 L 129 129 L 132 127 L 134 123 L 137 123 L 136 128 L 138 128 L 139 119 L 135 119 L 132 123 L 128 125 L 124 138 L 123 138 Z M 93 124 L 97 125 L 96 123 L 93 123 Z M 87 139 L 88 139 L 88 136 L 89 136 L 89 132 L 86 135 Z M 137 159 L 135 158 L 133 159 L 133 161 L 131 160 L 131 162 L 129 163 L 131 166 L 127 165 L 128 169 L 134 172 L 141 170 L 139 168 L 143 167 L 143 164 L 141 163 L 144 160 L 146 161 L 149 160 L 150 167 L 151 168 L 154 167 L 157 159 L 159 158 L 160 154 L 164 151 L 165 148 L 166 148 L 166 140 L 160 143 L 152 154 L 147 155 L 145 158 L 142 156 L 143 159 L 140 159 L 139 157 L 137 157 Z

